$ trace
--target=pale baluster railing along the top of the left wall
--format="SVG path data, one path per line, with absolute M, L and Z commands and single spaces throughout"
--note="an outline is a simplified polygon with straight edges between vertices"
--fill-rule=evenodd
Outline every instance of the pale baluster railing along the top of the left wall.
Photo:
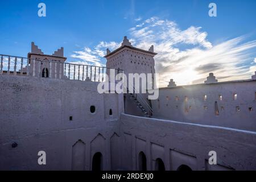
M 0 59 L 0 75 L 102 82 L 105 81 L 106 73 L 108 73 L 110 69 L 113 69 L 10 55 L 0 55 Z M 122 69 L 114 70 L 115 75 L 123 72 Z

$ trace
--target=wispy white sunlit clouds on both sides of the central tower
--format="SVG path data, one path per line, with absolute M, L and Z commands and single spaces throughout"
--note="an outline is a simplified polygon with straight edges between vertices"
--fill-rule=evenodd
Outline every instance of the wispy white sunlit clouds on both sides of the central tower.
M 213 72 L 219 81 L 248 79 L 256 71 L 256 40 L 246 42 L 246 36 L 229 39 L 213 45 L 207 32 L 191 26 L 181 30 L 176 22 L 152 17 L 139 20 L 129 29 L 133 46 L 148 49 L 155 46 L 156 72 L 159 86 L 167 86 L 170 78 L 178 85 L 202 83 Z M 72 57 L 102 64 L 106 48 L 112 51 L 121 43 L 100 42 L 92 49 L 75 51 Z M 251 64 L 250 64 L 251 63 Z

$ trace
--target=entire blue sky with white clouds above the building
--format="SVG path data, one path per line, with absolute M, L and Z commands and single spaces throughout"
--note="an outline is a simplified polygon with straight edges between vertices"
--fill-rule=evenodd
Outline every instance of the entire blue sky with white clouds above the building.
M 40 2 L 46 3 L 46 17 L 38 16 Z M 217 17 L 208 15 L 210 2 Z M 207 71 L 221 81 L 256 71 L 254 0 L 9 0 L 0 6 L 3 54 L 27 56 L 33 41 L 44 53 L 64 47 L 68 61 L 104 65 L 106 47 L 117 48 L 127 35 L 134 46 L 155 45 L 162 84 L 170 78 L 178 85 L 202 82 Z M 193 61 L 198 64 L 191 67 Z

